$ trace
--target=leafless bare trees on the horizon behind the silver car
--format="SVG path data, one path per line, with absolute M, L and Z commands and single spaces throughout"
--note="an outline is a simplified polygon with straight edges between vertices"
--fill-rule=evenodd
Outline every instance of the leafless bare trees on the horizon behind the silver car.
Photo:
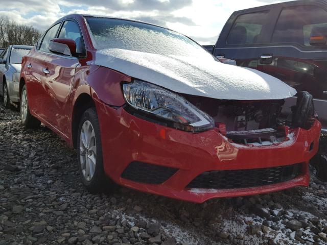
M 40 36 L 41 32 L 34 27 L 0 16 L 0 47 L 34 45 Z

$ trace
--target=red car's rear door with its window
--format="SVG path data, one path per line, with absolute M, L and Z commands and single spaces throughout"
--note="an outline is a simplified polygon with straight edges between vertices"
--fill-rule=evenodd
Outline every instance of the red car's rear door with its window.
M 47 121 L 47 118 L 44 111 L 48 109 L 48 105 L 45 102 L 48 99 L 41 83 L 42 69 L 44 67 L 44 59 L 49 52 L 49 40 L 55 38 L 59 27 L 60 23 L 57 23 L 49 28 L 38 40 L 35 45 L 35 51 L 30 52 L 26 57 L 26 61 L 22 64 L 22 72 L 25 72 L 30 110 L 45 121 Z

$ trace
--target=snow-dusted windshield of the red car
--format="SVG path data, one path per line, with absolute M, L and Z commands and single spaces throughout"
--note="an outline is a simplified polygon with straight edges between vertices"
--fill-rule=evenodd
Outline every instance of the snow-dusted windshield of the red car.
M 165 28 L 122 19 L 85 18 L 98 50 L 120 48 L 161 55 L 209 55 L 190 38 Z

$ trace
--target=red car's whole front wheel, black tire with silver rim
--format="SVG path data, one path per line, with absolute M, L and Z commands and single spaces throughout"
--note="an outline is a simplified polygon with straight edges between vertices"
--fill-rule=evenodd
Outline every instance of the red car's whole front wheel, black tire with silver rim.
M 78 169 L 82 183 L 91 192 L 111 189 L 103 168 L 99 119 L 96 108 L 87 109 L 80 120 L 77 136 Z

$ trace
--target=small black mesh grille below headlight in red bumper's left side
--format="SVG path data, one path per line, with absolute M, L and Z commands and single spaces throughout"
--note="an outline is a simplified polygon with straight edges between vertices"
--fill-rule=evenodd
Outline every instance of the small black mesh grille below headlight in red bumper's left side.
M 161 184 L 172 177 L 177 170 L 177 168 L 144 162 L 131 162 L 124 170 L 122 178 L 147 184 Z

